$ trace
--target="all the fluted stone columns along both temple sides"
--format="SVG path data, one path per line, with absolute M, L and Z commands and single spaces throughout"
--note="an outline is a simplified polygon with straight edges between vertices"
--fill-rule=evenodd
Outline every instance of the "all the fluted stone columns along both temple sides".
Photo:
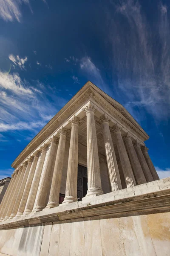
M 99 155 L 94 119 L 95 108 L 89 104 L 86 106 L 84 111 L 87 116 L 88 192 L 86 196 L 101 195 L 103 194 L 103 191 L 101 186 Z M 112 191 L 122 189 L 122 184 L 113 147 L 113 141 L 111 138 L 111 131 L 113 131 L 115 135 L 126 186 L 131 187 L 135 186 L 136 182 L 137 184 L 142 184 L 159 179 L 145 146 L 141 148 L 141 145 L 137 140 L 132 142 L 132 138 L 128 133 L 122 137 L 121 127 L 118 124 L 110 128 L 110 119 L 108 119 L 107 116 L 102 115 L 100 117 L 100 122 L 102 123 L 105 154 Z M 68 156 L 65 198 L 63 204 L 77 201 L 79 117 L 74 116 L 70 123 L 71 140 Z M 46 198 L 50 185 L 50 194 L 46 208 L 56 207 L 59 205 L 59 192 L 65 155 L 65 142 L 69 131 L 70 130 L 67 128 L 62 127 L 59 130 L 59 138 L 52 137 L 50 139 L 51 145 L 49 148 L 47 162 L 45 164 L 36 207 L 33 209 L 48 148 L 48 145 L 45 144 L 40 148 L 41 157 L 38 167 L 37 162 L 40 151 L 36 151 L 33 157 L 30 157 L 26 162 L 23 163 L 23 166 L 20 166 L 14 171 L 10 185 L 8 186 L 6 194 L 0 205 L 0 220 L 6 220 L 8 218 L 14 218 L 15 216 L 17 217 L 23 214 L 26 215 L 30 214 L 31 212 L 37 212 L 44 209 L 46 206 Z M 52 172 L 56 149 L 57 155 L 55 158 L 52 183 L 50 184 L 49 177 Z M 36 167 L 37 171 L 35 173 Z

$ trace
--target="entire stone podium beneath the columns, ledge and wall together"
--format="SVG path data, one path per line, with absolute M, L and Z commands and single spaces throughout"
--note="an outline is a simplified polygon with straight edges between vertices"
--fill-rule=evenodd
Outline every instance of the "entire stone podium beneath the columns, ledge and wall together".
M 169 256 L 170 178 L 0 223 L 0 255 Z M 35 223 L 35 224 L 34 224 Z

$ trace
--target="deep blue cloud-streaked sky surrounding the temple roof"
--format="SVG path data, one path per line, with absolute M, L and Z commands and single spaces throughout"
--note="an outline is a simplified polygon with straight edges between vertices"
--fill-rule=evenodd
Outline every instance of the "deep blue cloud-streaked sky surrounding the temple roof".
M 0 178 L 88 80 L 139 122 L 170 176 L 169 1 L 1 0 Z

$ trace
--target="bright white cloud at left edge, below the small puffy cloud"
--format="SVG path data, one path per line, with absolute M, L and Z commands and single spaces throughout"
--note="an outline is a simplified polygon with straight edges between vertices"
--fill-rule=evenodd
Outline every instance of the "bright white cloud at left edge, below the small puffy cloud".
M 32 91 L 26 88 L 26 85 L 20 79 L 20 76 L 16 73 L 8 74 L 0 71 L 0 87 L 6 90 L 11 90 L 16 94 L 27 94 L 31 96 Z M 1 95 L 6 97 L 6 92 L 2 91 Z

